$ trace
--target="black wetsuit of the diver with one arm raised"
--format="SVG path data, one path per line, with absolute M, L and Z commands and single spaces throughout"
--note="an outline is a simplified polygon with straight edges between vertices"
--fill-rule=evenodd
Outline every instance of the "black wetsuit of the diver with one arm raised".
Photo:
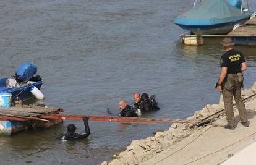
M 84 122 L 85 124 L 85 133 L 78 134 L 75 133 L 75 125 L 74 124 L 69 124 L 69 125 L 74 125 L 74 130 L 70 131 L 69 126 L 68 126 L 68 131 L 65 135 L 61 137 L 62 140 L 77 140 L 77 139 L 82 139 L 82 138 L 87 138 L 90 135 L 90 127 L 87 121 Z

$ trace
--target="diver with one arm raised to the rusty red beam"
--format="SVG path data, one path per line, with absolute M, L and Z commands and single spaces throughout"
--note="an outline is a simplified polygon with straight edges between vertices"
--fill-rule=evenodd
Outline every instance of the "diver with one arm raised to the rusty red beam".
M 88 117 L 82 117 L 83 122 L 85 124 L 85 133 L 78 134 L 75 133 L 75 130 L 77 127 L 75 127 L 74 124 L 69 124 L 67 125 L 67 133 L 62 135 L 61 139 L 62 140 L 77 140 L 77 139 L 82 139 L 82 138 L 87 138 L 90 135 L 90 127 L 88 124 Z

